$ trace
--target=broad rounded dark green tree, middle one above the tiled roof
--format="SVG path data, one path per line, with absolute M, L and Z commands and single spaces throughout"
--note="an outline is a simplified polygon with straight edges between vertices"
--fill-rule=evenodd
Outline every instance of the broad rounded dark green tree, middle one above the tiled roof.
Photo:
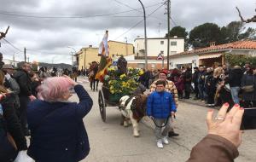
M 221 43 L 221 30 L 220 27 L 213 23 L 205 23 L 200 26 L 195 26 L 189 32 L 189 44 L 193 48 L 203 48 L 209 46 L 209 43 Z

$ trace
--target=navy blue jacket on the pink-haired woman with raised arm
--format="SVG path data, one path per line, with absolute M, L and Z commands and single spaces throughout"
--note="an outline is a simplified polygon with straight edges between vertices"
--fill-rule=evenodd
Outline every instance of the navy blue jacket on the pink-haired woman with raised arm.
M 74 90 L 79 103 L 36 100 L 28 105 L 27 123 L 32 136 L 27 154 L 36 161 L 76 162 L 89 153 L 83 118 L 90 112 L 93 102 L 82 85 L 76 85 Z M 79 138 L 84 141 L 83 154 L 77 150 Z

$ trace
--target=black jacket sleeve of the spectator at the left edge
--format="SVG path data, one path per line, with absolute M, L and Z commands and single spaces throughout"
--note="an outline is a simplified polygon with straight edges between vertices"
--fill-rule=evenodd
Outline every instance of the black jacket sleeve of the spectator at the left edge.
M 12 95 L 1 101 L 3 117 L 7 123 L 7 130 L 14 138 L 18 150 L 26 150 L 26 138 L 21 130 L 20 121 L 15 113 L 14 97 Z

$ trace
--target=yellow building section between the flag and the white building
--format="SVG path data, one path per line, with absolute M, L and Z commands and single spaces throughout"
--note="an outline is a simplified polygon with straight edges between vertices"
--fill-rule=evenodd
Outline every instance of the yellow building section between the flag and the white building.
M 108 41 L 109 46 L 109 56 L 114 58 L 120 55 L 132 55 L 133 52 L 133 44 L 131 43 L 123 43 L 117 41 Z

